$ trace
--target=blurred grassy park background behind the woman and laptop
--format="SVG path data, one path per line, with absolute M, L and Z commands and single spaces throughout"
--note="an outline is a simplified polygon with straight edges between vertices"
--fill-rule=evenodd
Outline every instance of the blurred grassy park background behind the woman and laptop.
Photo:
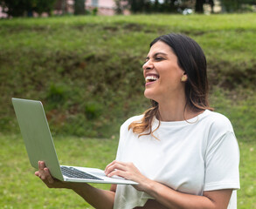
M 150 106 L 149 43 L 177 32 L 204 50 L 211 106 L 239 141 L 238 208 L 256 208 L 255 11 L 255 0 L 0 0 L 0 207 L 91 208 L 33 177 L 11 98 L 43 102 L 65 164 L 104 169 L 120 125 Z

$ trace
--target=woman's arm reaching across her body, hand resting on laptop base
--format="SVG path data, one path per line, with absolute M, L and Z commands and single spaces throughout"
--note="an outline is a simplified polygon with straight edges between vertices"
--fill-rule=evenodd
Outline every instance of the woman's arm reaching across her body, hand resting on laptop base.
M 158 203 L 167 208 L 209 208 L 222 209 L 228 206 L 232 190 L 204 192 L 203 196 L 177 192 L 170 187 L 146 178 L 132 163 L 113 161 L 105 170 L 107 176 L 119 175 L 125 179 L 134 180 L 139 185 L 135 189 L 147 192 Z

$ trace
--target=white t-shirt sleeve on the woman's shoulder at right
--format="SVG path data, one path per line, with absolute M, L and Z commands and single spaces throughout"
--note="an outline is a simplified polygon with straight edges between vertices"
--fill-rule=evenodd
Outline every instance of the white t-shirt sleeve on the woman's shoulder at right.
M 211 140 L 205 155 L 204 191 L 239 189 L 239 145 L 233 131 Z

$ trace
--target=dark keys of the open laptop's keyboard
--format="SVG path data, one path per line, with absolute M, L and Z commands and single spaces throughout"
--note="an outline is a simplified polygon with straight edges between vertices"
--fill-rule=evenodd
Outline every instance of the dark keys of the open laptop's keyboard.
M 62 174 L 69 178 L 103 180 L 103 179 L 95 177 L 87 172 L 81 172 L 80 170 L 78 170 L 74 167 L 61 166 L 60 169 L 61 169 Z

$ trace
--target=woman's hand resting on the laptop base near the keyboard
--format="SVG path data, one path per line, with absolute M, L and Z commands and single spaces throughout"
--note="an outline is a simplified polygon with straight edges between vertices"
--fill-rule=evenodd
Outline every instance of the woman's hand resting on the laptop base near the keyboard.
M 105 174 L 107 177 L 116 175 L 124 179 L 133 180 L 138 183 L 138 185 L 134 185 L 135 189 L 143 192 L 147 190 L 151 181 L 143 176 L 133 163 L 124 163 L 116 160 L 107 165 Z

